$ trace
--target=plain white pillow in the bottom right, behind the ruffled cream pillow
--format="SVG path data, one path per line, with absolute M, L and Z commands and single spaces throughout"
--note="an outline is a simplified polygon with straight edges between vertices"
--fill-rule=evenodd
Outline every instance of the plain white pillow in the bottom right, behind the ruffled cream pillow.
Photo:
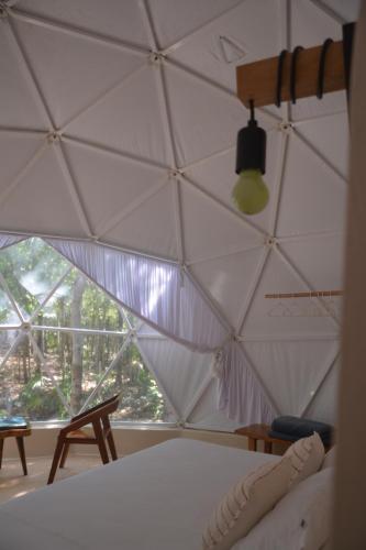
M 232 550 L 318 550 L 331 532 L 333 469 L 298 483 Z

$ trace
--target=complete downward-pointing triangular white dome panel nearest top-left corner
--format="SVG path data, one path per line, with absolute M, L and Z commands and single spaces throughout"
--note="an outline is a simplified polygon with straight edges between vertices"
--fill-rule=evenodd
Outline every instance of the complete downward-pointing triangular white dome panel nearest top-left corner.
M 23 22 L 16 29 L 57 128 L 143 63 L 69 33 Z

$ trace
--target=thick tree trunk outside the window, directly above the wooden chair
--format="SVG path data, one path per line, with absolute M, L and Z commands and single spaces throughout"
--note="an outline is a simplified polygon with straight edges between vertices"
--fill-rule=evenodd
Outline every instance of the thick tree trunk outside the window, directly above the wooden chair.
M 86 279 L 79 275 L 73 289 L 71 327 L 80 327 L 81 301 L 86 287 Z M 82 398 L 82 334 L 73 332 L 73 360 L 71 360 L 71 395 L 70 405 L 76 415 L 81 407 Z

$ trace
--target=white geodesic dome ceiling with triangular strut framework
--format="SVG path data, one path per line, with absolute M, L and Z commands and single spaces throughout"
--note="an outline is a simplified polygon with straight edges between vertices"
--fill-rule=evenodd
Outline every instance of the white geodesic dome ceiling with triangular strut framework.
M 270 201 L 231 200 L 247 111 L 235 66 L 340 40 L 358 1 L 0 2 L 0 231 L 184 266 L 278 411 L 334 419 L 340 304 L 267 293 L 342 288 L 345 95 L 259 109 Z

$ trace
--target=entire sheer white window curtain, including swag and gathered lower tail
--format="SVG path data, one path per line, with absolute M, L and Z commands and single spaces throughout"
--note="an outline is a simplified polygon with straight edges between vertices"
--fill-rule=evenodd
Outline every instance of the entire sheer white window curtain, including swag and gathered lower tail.
M 0 249 L 23 239 L 0 234 Z M 46 242 L 159 332 L 200 353 L 222 350 L 219 408 L 229 418 L 243 425 L 273 420 L 277 411 L 241 345 L 230 338 L 230 329 L 179 265 L 91 242 Z

